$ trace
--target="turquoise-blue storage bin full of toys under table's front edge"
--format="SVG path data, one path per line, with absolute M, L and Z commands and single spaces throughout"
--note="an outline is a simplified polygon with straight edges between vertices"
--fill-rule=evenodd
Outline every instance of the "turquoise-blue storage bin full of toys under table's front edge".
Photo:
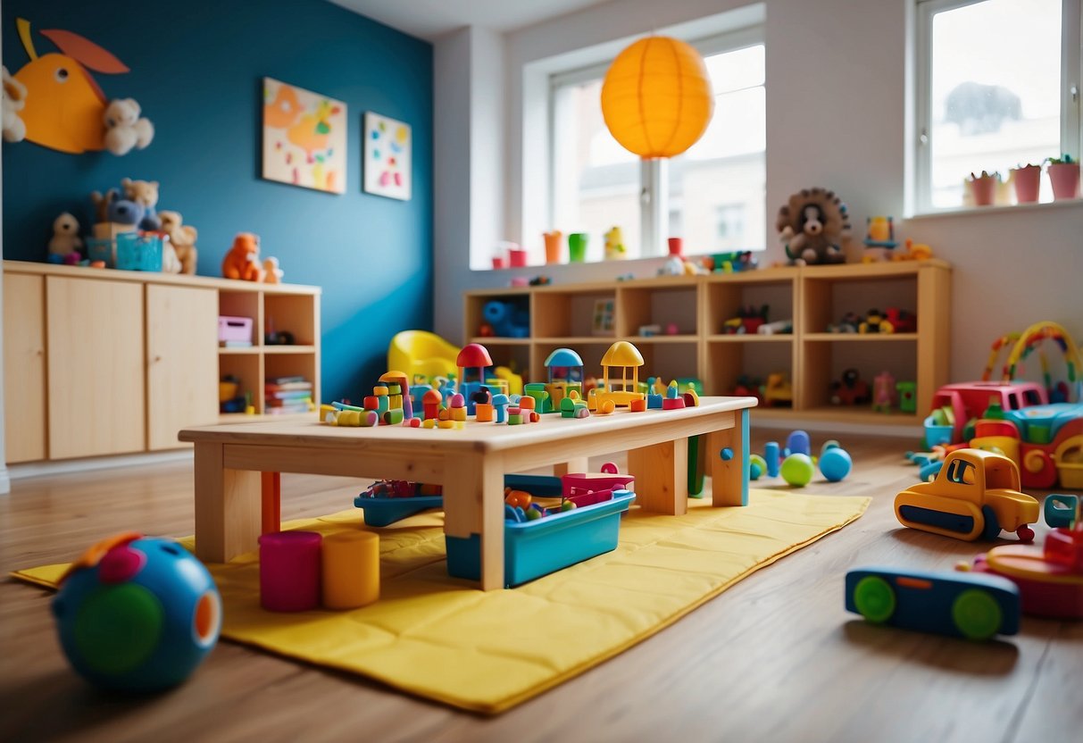
M 504 585 L 511 588 L 576 562 L 616 549 L 621 514 L 636 494 L 615 491 L 612 500 L 537 521 L 505 523 Z M 481 579 L 481 538 L 444 536 L 447 572 L 454 577 Z

